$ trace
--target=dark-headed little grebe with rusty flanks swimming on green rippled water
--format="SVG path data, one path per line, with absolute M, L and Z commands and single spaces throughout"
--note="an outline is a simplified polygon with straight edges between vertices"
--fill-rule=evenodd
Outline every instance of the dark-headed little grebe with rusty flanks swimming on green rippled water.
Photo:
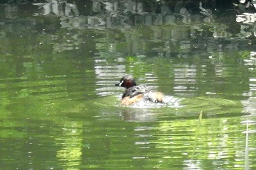
M 151 101 L 154 103 L 163 102 L 163 94 L 160 92 L 152 92 L 149 88 L 144 85 L 137 86 L 132 76 L 126 75 L 120 79 L 119 83 L 114 86 L 122 86 L 125 88 L 124 94 L 122 95 L 122 105 L 132 105 L 138 101 Z

